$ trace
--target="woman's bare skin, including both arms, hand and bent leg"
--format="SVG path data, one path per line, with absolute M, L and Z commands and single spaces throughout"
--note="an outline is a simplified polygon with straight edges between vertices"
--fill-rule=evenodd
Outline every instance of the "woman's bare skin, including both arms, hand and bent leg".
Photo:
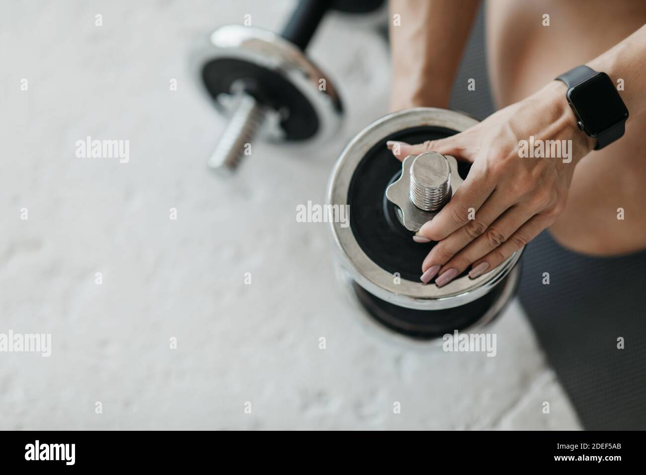
M 470 27 L 477 2 L 391 0 L 390 6 L 402 23 L 391 26 L 392 109 L 446 107 L 464 25 Z M 545 13 L 550 26 L 542 25 Z M 503 109 L 450 138 L 389 143 L 400 160 L 433 150 L 472 163 L 449 204 L 415 237 L 437 241 L 422 263 L 422 282 L 437 276 L 443 286 L 466 269 L 477 277 L 545 228 L 563 246 L 590 255 L 646 248 L 646 4 L 497 0 L 486 18 L 492 89 Z M 626 133 L 601 151 L 592 151 L 596 141 L 576 127 L 567 87 L 554 81 L 579 64 L 606 72 L 614 83 L 624 80 Z M 520 158 L 519 142 L 530 136 L 570 140 L 571 162 Z M 618 207 L 625 220 L 617 219 Z

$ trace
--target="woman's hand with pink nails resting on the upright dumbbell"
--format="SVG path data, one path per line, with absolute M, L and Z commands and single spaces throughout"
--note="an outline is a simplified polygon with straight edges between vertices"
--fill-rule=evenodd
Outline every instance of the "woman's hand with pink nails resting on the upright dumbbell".
M 388 143 L 399 160 L 435 151 L 472 163 L 450 202 L 414 237 L 438 241 L 422 264 L 424 284 L 437 275 L 444 286 L 469 267 L 472 278 L 495 268 L 563 212 L 574 167 L 595 143 L 579 131 L 566 91 L 553 81 L 452 137 Z M 530 158 L 541 142 L 550 158 Z

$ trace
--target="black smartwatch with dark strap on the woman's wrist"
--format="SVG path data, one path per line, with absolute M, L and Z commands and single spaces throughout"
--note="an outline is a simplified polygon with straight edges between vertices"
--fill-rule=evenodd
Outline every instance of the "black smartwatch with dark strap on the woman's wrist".
M 567 102 L 579 129 L 596 138 L 595 150 L 623 136 L 628 109 L 610 76 L 587 66 L 577 66 L 556 79 L 567 85 Z

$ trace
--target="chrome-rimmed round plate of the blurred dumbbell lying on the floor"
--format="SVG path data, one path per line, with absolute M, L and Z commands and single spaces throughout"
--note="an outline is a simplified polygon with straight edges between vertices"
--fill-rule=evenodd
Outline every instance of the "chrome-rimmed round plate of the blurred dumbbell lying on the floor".
M 289 41 L 260 28 L 227 25 L 213 32 L 210 43 L 196 53 L 194 63 L 224 114 L 229 111 L 222 96 L 244 89 L 280 114 L 279 130 L 271 138 L 304 140 L 337 130 L 342 106 L 333 82 Z

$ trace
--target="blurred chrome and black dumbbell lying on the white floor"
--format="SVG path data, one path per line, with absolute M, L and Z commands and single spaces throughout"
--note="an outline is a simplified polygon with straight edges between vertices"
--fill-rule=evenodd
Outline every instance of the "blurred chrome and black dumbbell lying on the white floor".
M 339 93 L 304 50 L 326 12 L 370 12 L 382 3 L 300 0 L 280 35 L 242 25 L 213 32 L 198 67 L 203 86 L 228 123 L 209 167 L 225 174 L 235 171 L 261 127 L 270 140 L 331 136 L 343 111 Z

